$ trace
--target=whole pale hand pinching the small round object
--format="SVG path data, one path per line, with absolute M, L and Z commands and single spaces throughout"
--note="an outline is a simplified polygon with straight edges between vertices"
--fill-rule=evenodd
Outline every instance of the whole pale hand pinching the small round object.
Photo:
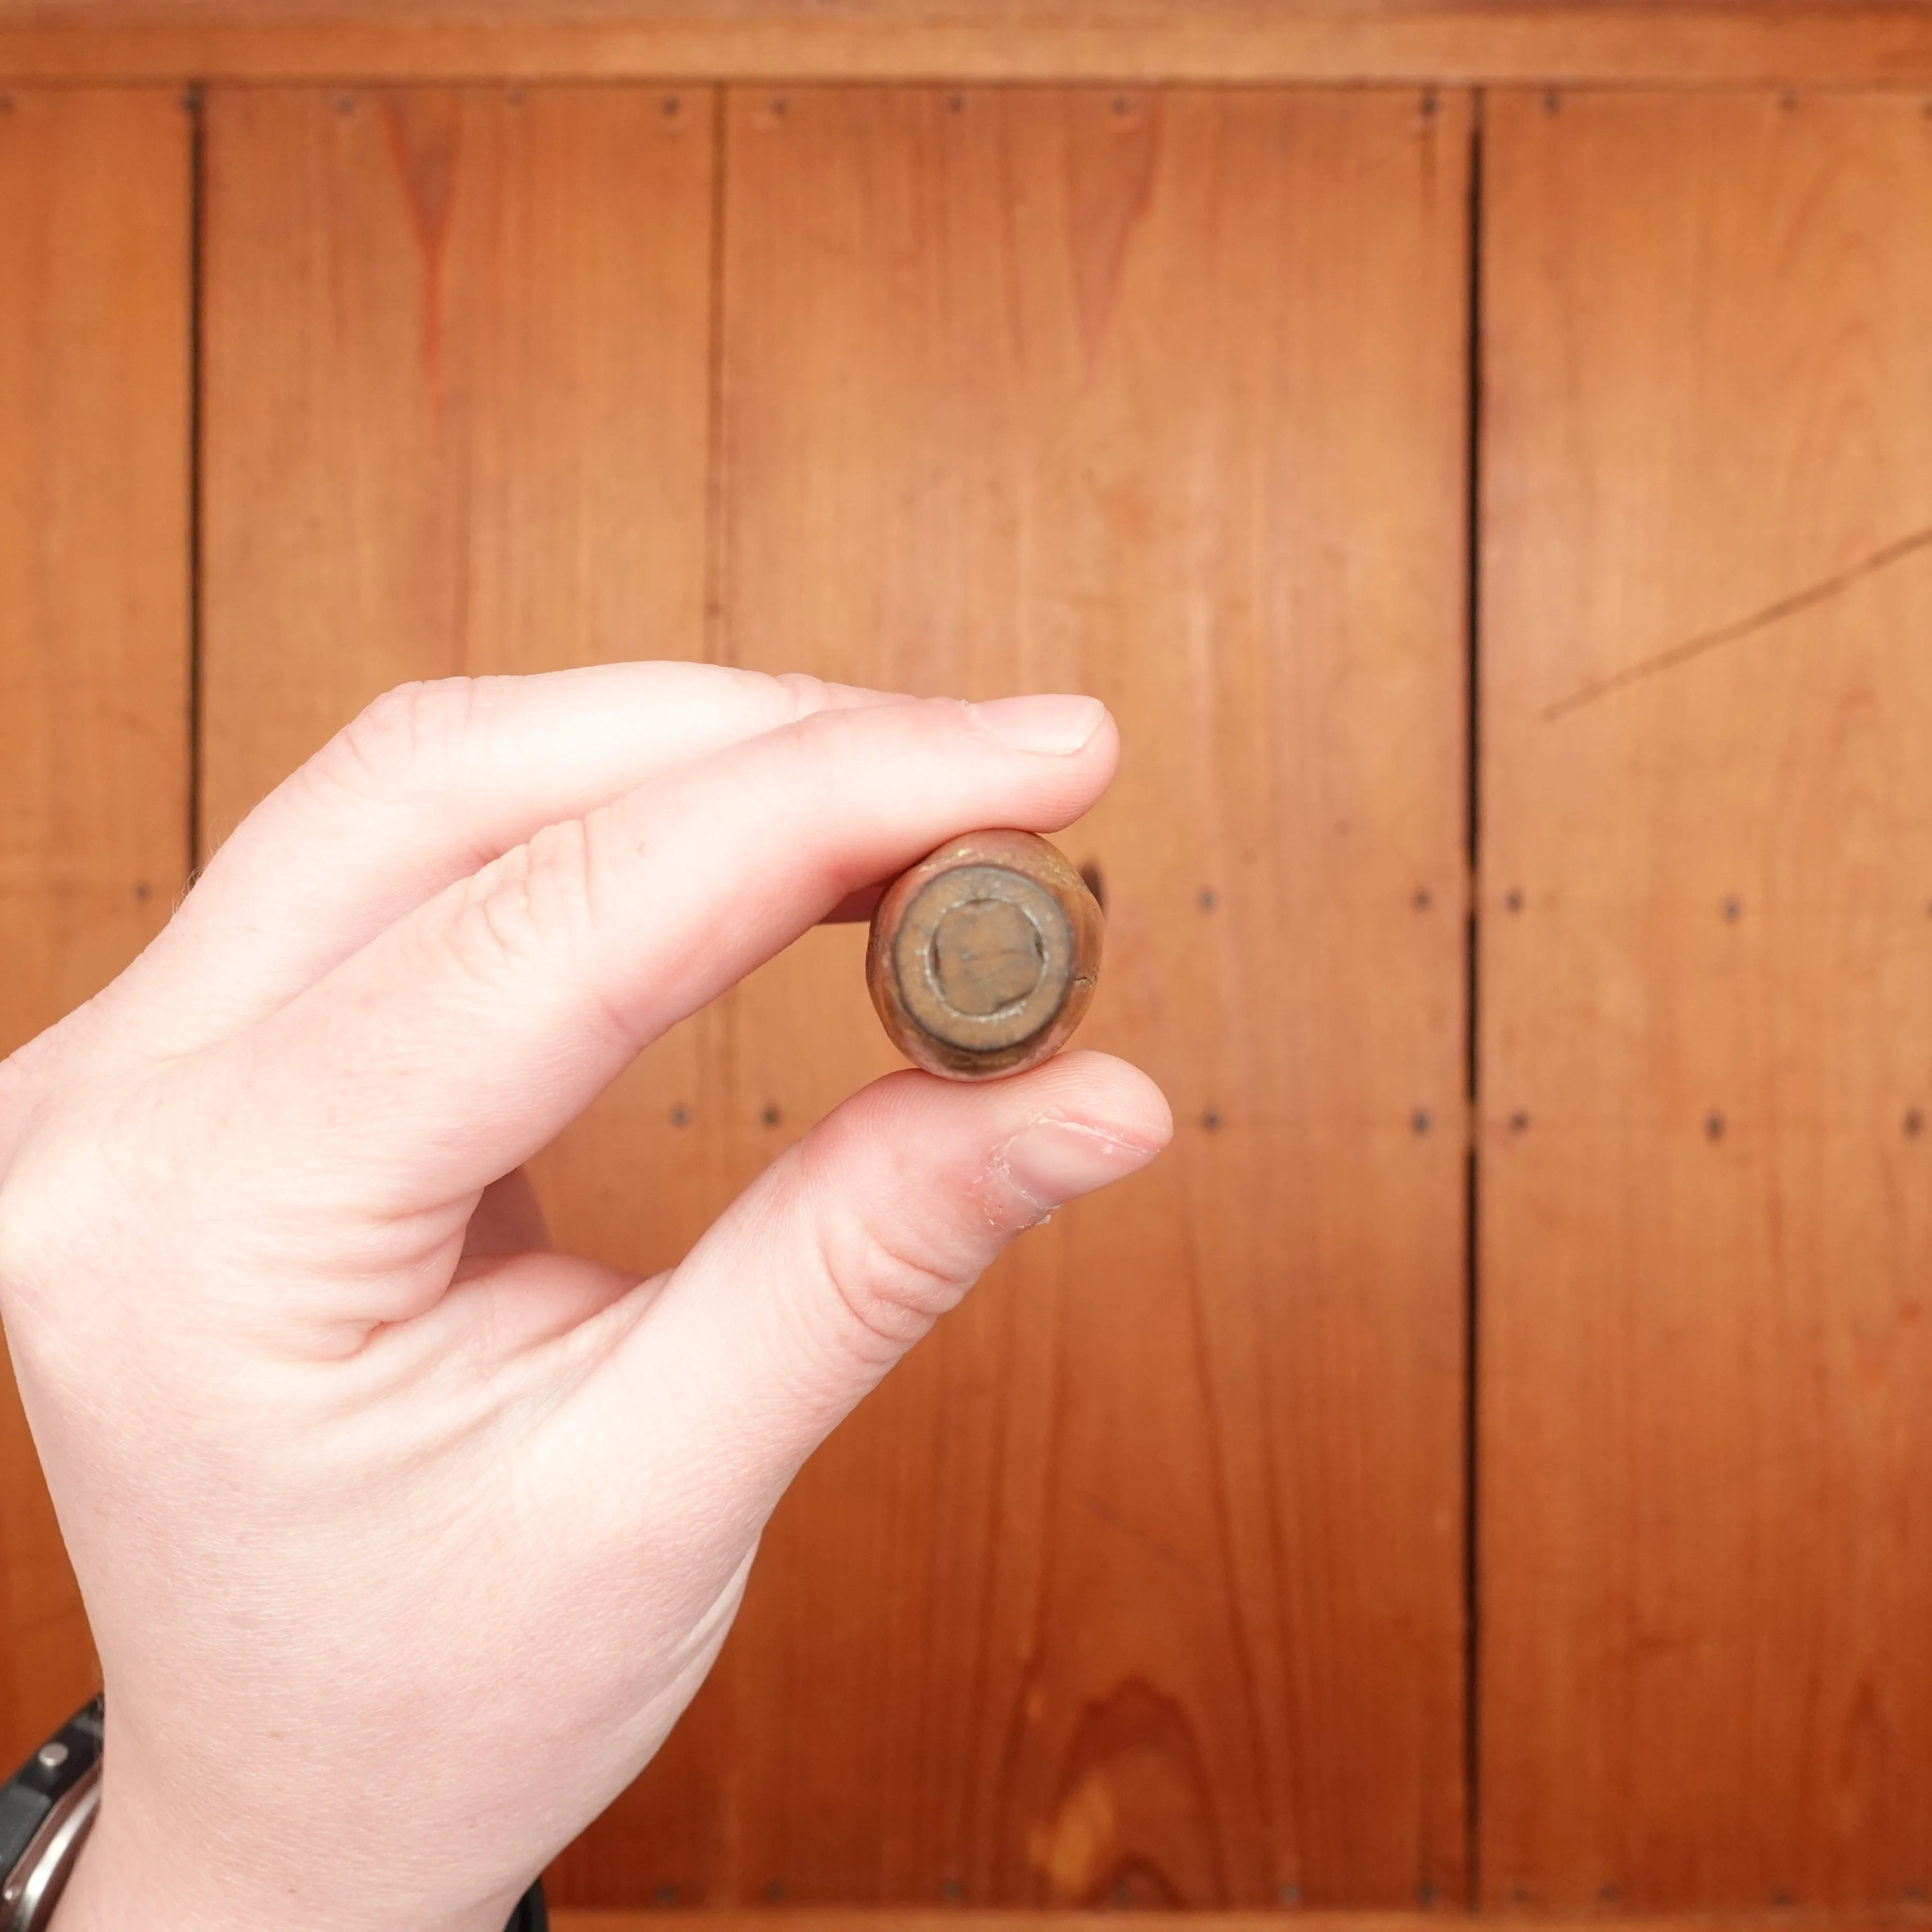
M 108 1694 L 60 1932 L 498 1932 L 690 1702 L 800 1463 L 1171 1121 L 1097 1053 L 893 1074 L 649 1281 L 551 1252 L 522 1163 L 854 893 L 1070 823 L 1117 753 L 1088 697 L 408 688 L 0 1066 L 0 1314 Z

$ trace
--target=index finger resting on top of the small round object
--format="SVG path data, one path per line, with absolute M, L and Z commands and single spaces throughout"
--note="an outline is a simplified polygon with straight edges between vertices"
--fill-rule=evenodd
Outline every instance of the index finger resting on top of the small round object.
M 1070 823 L 1117 753 L 1088 697 L 823 711 L 547 827 L 257 1030 L 243 1065 L 288 1072 L 242 1157 L 274 1177 L 334 1128 L 340 1208 L 464 1200 L 848 893 L 966 829 Z

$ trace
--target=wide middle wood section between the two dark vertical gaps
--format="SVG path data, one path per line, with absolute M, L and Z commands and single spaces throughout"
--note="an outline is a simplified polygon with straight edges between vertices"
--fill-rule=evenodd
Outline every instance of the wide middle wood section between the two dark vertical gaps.
M 1461 1886 L 1466 112 L 211 99 L 214 829 L 402 676 L 626 651 L 1134 746 L 1090 1034 L 1182 1148 L 819 1457 L 562 1897 Z M 815 935 L 558 1150 L 558 1233 L 661 1265 L 887 1065 Z

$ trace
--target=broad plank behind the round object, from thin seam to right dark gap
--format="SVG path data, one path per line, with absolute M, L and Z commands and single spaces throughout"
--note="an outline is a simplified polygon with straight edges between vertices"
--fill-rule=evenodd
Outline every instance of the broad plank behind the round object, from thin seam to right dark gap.
M 1082 1043 L 1180 1134 L 808 1466 L 558 1897 L 1451 1897 L 1468 104 L 746 89 L 724 155 L 721 649 L 1109 699 Z M 893 1065 L 860 947 L 740 989 L 740 1173 Z

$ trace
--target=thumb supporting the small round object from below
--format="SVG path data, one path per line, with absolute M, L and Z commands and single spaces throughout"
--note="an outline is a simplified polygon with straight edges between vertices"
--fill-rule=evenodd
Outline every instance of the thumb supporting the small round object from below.
M 589 1405 L 605 1451 L 628 1435 L 661 1463 L 670 1424 L 705 1492 L 690 1501 L 761 1517 L 1014 1235 L 1171 1134 L 1159 1088 L 1101 1053 L 983 1086 L 879 1080 L 726 1209 L 624 1337 L 622 1395 Z

